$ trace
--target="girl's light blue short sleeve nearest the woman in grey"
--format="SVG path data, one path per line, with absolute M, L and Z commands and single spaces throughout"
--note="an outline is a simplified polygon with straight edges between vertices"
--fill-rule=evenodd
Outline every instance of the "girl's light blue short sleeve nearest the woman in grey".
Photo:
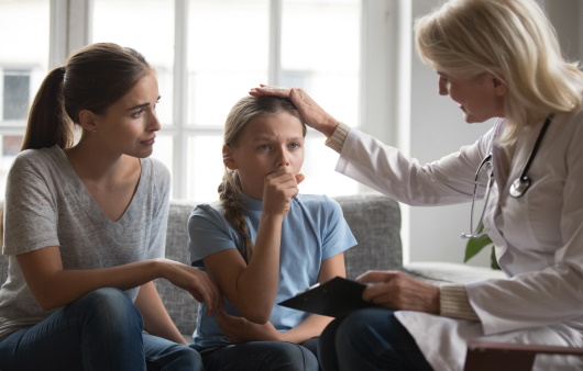
M 242 246 L 241 236 L 211 205 L 198 205 L 188 217 L 188 251 L 190 265 L 204 267 L 202 259 L 211 254 Z M 242 251 L 242 248 L 239 248 Z

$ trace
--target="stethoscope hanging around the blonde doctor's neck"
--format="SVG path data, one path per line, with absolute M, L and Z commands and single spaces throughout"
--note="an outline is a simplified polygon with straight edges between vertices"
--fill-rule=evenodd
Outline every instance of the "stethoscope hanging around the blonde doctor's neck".
M 508 192 L 510 193 L 510 196 L 513 196 L 514 199 L 521 198 L 526 193 L 526 191 L 530 188 L 530 184 L 532 183 L 527 172 L 530 169 L 530 165 L 532 164 L 532 160 L 535 159 L 537 151 L 539 150 L 540 143 L 542 142 L 542 138 L 544 137 L 544 133 L 547 133 L 547 128 L 549 128 L 552 117 L 553 117 L 553 114 L 551 113 L 544 121 L 544 124 L 542 124 L 539 136 L 537 137 L 537 142 L 535 142 L 535 146 L 532 147 L 532 150 L 530 151 L 530 156 L 528 156 L 528 160 L 525 165 L 525 168 L 522 169 L 522 172 L 520 173 L 520 177 L 518 177 L 510 184 L 510 189 L 508 190 Z M 477 188 L 480 186 L 480 179 L 479 179 L 480 172 L 482 171 L 483 167 L 487 167 L 488 182 L 486 183 L 484 209 L 482 210 L 482 213 L 480 214 L 480 222 L 476 224 L 476 227 L 474 229 L 474 207 L 475 207 L 475 200 L 477 198 Z M 490 199 L 490 191 L 492 189 L 493 183 L 494 183 L 494 169 L 492 165 L 492 153 L 490 153 L 482 160 L 482 162 L 480 164 L 475 172 L 474 196 L 472 199 L 472 211 L 470 215 L 470 231 L 472 232 L 462 233 L 462 238 L 480 238 L 485 234 L 485 231 L 483 231 L 482 228 L 482 223 L 484 221 L 484 214 L 486 213 L 486 204 Z

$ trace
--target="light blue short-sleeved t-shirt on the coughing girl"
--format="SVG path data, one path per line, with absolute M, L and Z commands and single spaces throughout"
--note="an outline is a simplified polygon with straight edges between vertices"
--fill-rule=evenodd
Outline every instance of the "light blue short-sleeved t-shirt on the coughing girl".
M 239 195 L 253 243 L 257 236 L 262 201 L 243 193 Z M 190 262 L 205 270 L 207 256 L 238 249 L 243 254 L 243 238 L 229 224 L 218 205 L 200 204 L 188 218 Z M 356 245 L 356 240 L 342 215 L 340 205 L 326 195 L 298 194 L 292 200 L 289 213 L 282 225 L 279 252 L 279 286 L 270 322 L 279 331 L 299 325 L 309 314 L 287 308 L 277 303 L 289 299 L 318 282 L 321 261 Z M 228 268 L 226 268 L 228 269 Z M 224 310 L 240 316 L 224 299 Z M 195 347 L 229 345 L 217 325 L 216 317 L 206 315 L 207 306 L 198 307 L 197 328 L 193 334 Z

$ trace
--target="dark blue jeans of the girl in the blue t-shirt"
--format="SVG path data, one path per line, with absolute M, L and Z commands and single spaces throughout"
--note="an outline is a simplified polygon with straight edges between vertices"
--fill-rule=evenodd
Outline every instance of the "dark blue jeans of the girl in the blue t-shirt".
M 206 370 L 317 371 L 317 338 L 302 345 L 287 341 L 250 341 L 200 351 Z

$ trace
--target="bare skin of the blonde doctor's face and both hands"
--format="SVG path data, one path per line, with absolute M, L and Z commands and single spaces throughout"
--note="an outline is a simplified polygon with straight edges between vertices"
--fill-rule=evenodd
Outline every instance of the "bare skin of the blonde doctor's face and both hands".
M 482 74 L 477 77 L 460 77 L 438 71 L 439 93 L 450 95 L 460 104 L 468 123 L 484 122 L 492 117 L 504 117 L 504 98 L 507 86 L 501 77 Z M 251 95 L 276 95 L 294 102 L 307 125 L 332 136 L 339 125 L 338 120 L 327 113 L 304 90 L 260 86 L 250 91 Z M 358 281 L 374 283 L 363 293 L 365 301 L 394 311 L 417 311 L 440 313 L 439 286 L 417 280 L 399 271 L 369 271 Z

